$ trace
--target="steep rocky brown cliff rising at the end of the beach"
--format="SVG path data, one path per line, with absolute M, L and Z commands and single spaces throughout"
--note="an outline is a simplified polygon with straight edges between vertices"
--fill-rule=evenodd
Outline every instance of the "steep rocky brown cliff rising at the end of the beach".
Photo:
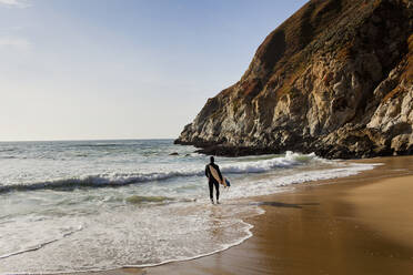
M 240 155 L 413 153 L 413 1 L 313 0 L 175 143 Z

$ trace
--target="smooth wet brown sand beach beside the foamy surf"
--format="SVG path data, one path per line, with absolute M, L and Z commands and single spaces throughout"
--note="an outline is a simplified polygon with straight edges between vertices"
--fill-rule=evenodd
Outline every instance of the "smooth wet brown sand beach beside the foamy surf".
M 101 274 L 413 274 L 413 156 L 360 162 L 384 165 L 253 198 L 266 213 L 241 245 Z

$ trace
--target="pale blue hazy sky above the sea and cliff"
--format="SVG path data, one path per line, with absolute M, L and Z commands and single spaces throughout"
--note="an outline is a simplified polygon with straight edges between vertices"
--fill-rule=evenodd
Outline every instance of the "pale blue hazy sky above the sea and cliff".
M 0 0 L 0 141 L 175 139 L 306 0 Z

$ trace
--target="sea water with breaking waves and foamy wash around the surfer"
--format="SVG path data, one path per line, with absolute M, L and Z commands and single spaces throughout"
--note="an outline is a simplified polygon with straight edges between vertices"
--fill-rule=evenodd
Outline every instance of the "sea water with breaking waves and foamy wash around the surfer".
M 251 197 L 373 169 L 293 152 L 215 157 L 231 187 L 211 205 L 209 157 L 194 151 L 172 140 L 0 143 L 0 274 L 209 255 L 252 235 L 244 221 L 263 211 Z

